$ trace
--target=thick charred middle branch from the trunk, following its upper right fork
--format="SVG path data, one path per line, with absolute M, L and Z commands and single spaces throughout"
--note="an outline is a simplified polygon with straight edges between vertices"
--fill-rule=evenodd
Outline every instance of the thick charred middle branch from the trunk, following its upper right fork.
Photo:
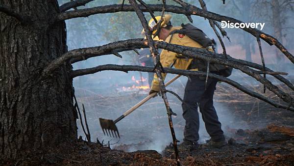
M 220 55 L 206 51 L 204 49 L 199 49 L 199 48 L 192 48 L 192 47 L 185 47 L 185 46 L 179 46 L 179 45 L 174 45 L 174 44 L 168 44 L 166 42 L 155 42 L 156 47 L 170 50 L 172 52 L 176 53 L 182 53 L 185 51 L 184 55 L 188 55 L 190 57 L 195 57 L 195 58 L 202 58 L 204 60 L 210 60 L 211 62 L 218 63 L 217 60 L 212 60 L 215 57 L 219 57 Z M 70 61 L 72 63 L 88 59 L 90 57 L 94 56 L 100 56 L 100 55 L 109 55 L 112 54 L 113 51 L 115 50 L 116 52 L 122 52 L 122 51 L 129 51 L 133 50 L 135 48 L 140 49 L 140 48 L 147 48 L 147 41 L 144 39 L 129 39 L 129 40 L 124 40 L 124 41 L 118 41 L 118 42 L 113 42 L 109 43 L 103 46 L 98 46 L 98 47 L 90 47 L 90 48 L 82 48 L 82 49 L 75 49 L 72 51 L 67 52 L 66 54 L 62 55 L 61 57 L 53 60 L 43 71 L 43 76 L 47 77 L 50 75 L 55 69 L 57 69 L 59 66 L 63 65 L 65 62 Z M 221 59 L 221 58 L 220 58 Z M 228 55 L 228 59 L 222 59 L 224 62 L 230 62 L 226 63 L 225 65 L 232 66 L 232 63 L 238 64 L 238 65 L 245 65 L 248 67 L 253 67 L 258 70 L 265 70 L 267 72 L 274 72 L 270 70 L 269 68 L 263 68 L 263 66 L 253 63 L 253 62 L 248 62 L 245 60 L 241 59 L 235 59 L 231 56 Z M 255 70 L 251 71 L 252 74 L 256 74 Z M 294 85 L 285 79 L 284 77 L 280 75 L 273 75 L 275 78 L 280 80 L 282 83 L 285 83 L 287 86 L 289 86 L 292 90 L 294 90 Z

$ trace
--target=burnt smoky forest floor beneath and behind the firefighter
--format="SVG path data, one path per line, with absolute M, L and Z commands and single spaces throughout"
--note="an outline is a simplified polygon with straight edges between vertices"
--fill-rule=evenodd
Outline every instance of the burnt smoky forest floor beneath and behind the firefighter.
M 182 96 L 182 90 L 176 87 L 170 88 Z M 284 86 L 279 87 L 294 96 L 293 91 Z M 252 85 L 250 88 L 260 93 L 263 91 L 261 85 Z M 279 101 L 269 90 L 264 95 Z M 145 96 L 146 93 L 123 93 L 107 97 L 97 93 L 79 95 L 78 101 L 85 104 L 92 139 L 103 140 L 103 146 L 86 142 L 81 137 L 76 146 L 60 148 L 60 154 L 67 155 L 55 152 L 45 155 L 42 160 L 26 158 L 1 161 L 0 165 L 176 165 L 173 147 L 169 144 L 171 135 L 166 113 L 162 111 L 164 107 L 158 106 L 162 105 L 159 97 L 118 123 L 121 139 L 104 137 L 98 128 L 98 117 L 119 117 Z M 181 139 L 184 121 L 180 115 L 180 102 L 172 97 L 170 102 L 173 111 L 178 114 L 173 117 L 173 123 L 177 138 Z M 294 166 L 294 112 L 274 108 L 224 83 L 218 84 L 214 102 L 228 145 L 221 149 L 208 147 L 205 140 L 209 137 L 202 126 L 199 131 L 200 148 L 194 151 L 180 149 L 182 165 Z M 119 112 L 115 112 L 117 110 Z M 83 136 L 81 131 L 79 134 Z

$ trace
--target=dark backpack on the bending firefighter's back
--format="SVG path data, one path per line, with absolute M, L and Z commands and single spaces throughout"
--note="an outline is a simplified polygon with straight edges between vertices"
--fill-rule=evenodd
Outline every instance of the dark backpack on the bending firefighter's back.
M 190 37 L 192 40 L 199 43 L 201 46 L 207 48 L 209 46 L 212 46 L 214 49 L 214 46 L 216 45 L 215 41 L 213 39 L 210 39 L 201 29 L 194 27 L 191 24 L 182 24 L 181 29 L 173 30 L 170 34 L 174 33 L 181 33 L 185 34 L 188 37 Z M 222 57 L 224 57 L 222 55 Z M 192 64 L 190 66 L 198 68 L 199 71 L 206 72 L 207 71 L 207 61 L 202 59 L 194 59 L 192 61 Z M 223 77 L 229 77 L 232 74 L 233 68 L 230 66 L 224 66 L 222 64 L 217 63 L 210 63 L 209 64 L 209 72 L 217 74 L 219 76 Z

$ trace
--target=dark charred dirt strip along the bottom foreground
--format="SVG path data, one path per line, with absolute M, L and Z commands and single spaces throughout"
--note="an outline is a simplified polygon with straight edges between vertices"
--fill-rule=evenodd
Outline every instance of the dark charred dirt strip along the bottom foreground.
M 237 130 L 235 137 L 221 149 L 207 147 L 189 151 L 180 150 L 181 164 L 184 166 L 293 166 L 294 165 L 294 128 L 269 126 L 262 130 Z M 62 148 L 61 148 L 62 149 Z M 111 150 L 97 143 L 79 141 L 76 146 L 67 148 L 64 153 L 47 154 L 43 159 L 26 158 L 10 165 L 65 165 L 65 166 L 167 166 L 176 165 L 172 145 L 166 147 L 163 154 L 155 150 L 124 152 Z

